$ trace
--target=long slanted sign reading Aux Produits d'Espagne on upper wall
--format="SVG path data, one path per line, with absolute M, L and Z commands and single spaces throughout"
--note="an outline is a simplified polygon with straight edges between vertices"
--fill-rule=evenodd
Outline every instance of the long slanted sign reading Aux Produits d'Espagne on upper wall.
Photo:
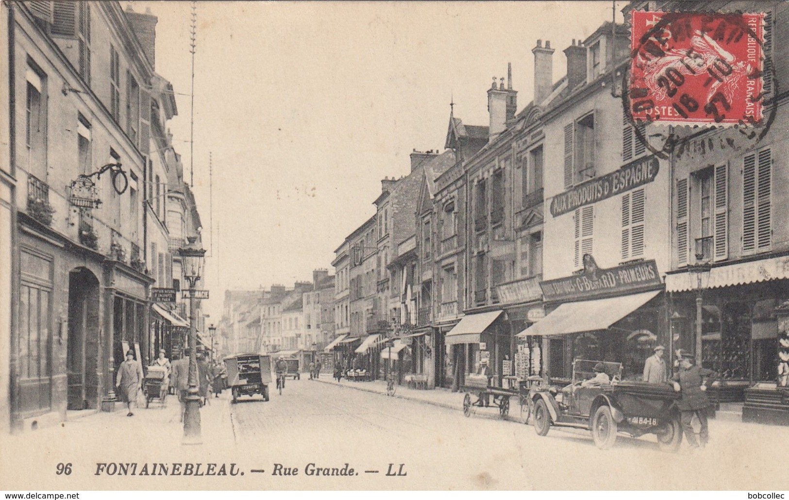
M 620 193 L 649 184 L 657 177 L 660 163 L 654 156 L 630 162 L 603 177 L 589 179 L 574 188 L 553 197 L 551 215 L 558 217 L 578 207 L 611 198 Z

